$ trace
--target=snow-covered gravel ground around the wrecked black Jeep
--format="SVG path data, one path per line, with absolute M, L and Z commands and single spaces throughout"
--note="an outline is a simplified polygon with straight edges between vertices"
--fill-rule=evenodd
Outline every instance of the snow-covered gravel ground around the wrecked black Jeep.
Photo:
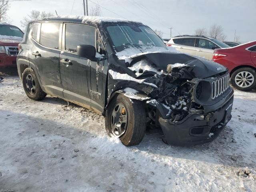
M 30 100 L 18 76 L 0 83 L 0 192 L 256 191 L 256 91 L 235 91 L 214 142 L 178 147 L 147 132 L 125 147 L 104 117 L 62 99 Z

